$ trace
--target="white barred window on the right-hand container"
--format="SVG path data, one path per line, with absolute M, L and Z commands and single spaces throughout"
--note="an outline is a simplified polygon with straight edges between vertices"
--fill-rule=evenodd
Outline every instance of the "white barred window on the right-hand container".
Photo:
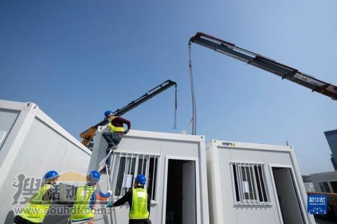
M 237 181 L 237 187 L 235 185 L 235 176 L 234 176 L 234 168 L 233 165 L 235 167 L 235 172 L 236 172 L 236 181 Z M 247 200 L 244 197 L 244 192 L 242 189 L 242 183 L 243 181 L 243 176 L 242 176 L 242 167 L 248 167 L 249 168 L 249 174 L 247 174 L 247 172 L 244 172 L 246 175 L 246 180 L 249 179 L 251 180 L 251 186 L 253 186 L 253 189 L 251 189 L 252 193 L 253 193 L 253 198 L 255 199 L 251 199 L 250 198 L 250 193 L 248 193 L 249 195 L 249 199 Z M 255 167 L 257 167 L 257 171 L 258 171 L 258 176 L 256 176 L 255 174 Z M 258 167 L 260 167 L 261 169 L 261 173 L 259 172 Z M 256 162 L 230 162 L 230 169 L 231 169 L 231 174 L 232 174 L 232 189 L 233 189 L 233 197 L 234 197 L 234 204 L 236 205 L 256 205 L 256 206 L 267 206 L 267 205 L 271 205 L 271 200 L 270 200 L 270 193 L 269 190 L 267 188 L 267 179 L 266 179 L 266 175 L 265 175 L 265 164 L 264 163 L 256 163 Z M 252 172 L 251 172 L 252 171 Z M 258 186 L 258 181 L 257 179 L 259 179 L 259 186 Z M 263 180 L 263 183 L 261 183 L 261 180 Z M 263 186 L 262 186 L 263 184 Z M 265 198 L 263 196 L 263 187 L 265 188 L 265 196 L 267 198 Z M 239 190 L 239 198 L 237 198 L 237 188 Z M 262 193 L 261 197 L 263 198 L 263 201 L 260 201 L 260 195 L 258 193 L 258 188 L 260 188 L 260 192 Z

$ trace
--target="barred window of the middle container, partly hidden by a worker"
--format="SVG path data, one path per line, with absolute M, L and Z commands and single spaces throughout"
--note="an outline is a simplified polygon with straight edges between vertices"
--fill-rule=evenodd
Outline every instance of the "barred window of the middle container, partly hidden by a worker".
M 112 190 L 119 198 L 133 187 L 138 174 L 146 176 L 145 189 L 152 201 L 157 201 L 158 155 L 114 152 L 112 157 Z

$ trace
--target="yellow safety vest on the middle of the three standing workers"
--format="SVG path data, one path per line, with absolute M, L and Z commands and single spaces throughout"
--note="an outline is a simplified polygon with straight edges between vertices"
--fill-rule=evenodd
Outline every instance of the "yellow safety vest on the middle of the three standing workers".
M 95 210 L 90 209 L 90 198 L 94 191 L 94 186 L 81 186 L 77 188 L 74 206 L 70 211 L 71 221 L 81 221 L 95 216 Z

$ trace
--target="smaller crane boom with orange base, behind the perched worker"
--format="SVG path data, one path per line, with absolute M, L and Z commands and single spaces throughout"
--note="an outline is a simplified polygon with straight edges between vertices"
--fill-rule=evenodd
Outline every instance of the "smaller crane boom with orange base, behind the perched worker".
M 143 104 L 147 100 L 151 99 L 152 97 L 156 96 L 157 94 L 164 92 L 165 90 L 169 89 L 171 86 L 175 86 L 177 88 L 177 83 L 173 82 L 172 80 L 166 80 L 164 83 L 161 83 L 160 85 L 157 85 L 152 90 L 147 91 L 145 94 L 143 94 L 141 97 L 138 97 L 138 99 L 135 99 L 128 103 L 126 106 L 124 106 L 121 109 L 117 109 L 113 112 L 115 116 L 122 116 L 124 113 L 127 113 L 128 111 L 131 111 L 135 107 L 139 106 L 140 104 Z M 177 90 L 176 90 L 177 91 Z M 93 125 L 92 127 L 88 128 L 88 130 L 82 132 L 79 134 L 79 137 L 81 137 L 83 140 L 81 141 L 84 146 L 88 144 L 91 139 L 95 136 L 95 132 L 98 128 L 98 126 L 107 125 L 108 121 L 107 119 L 102 120 L 100 123 Z

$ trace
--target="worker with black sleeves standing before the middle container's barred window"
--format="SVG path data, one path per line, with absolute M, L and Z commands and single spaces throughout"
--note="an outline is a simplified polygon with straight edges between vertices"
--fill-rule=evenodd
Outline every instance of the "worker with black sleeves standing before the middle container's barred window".
M 121 199 L 114 202 L 113 207 L 118 207 L 126 202 L 130 206 L 128 213 L 129 224 L 149 224 L 150 216 L 150 196 L 145 190 L 146 177 L 143 174 L 136 176 L 133 188 L 129 190 Z

